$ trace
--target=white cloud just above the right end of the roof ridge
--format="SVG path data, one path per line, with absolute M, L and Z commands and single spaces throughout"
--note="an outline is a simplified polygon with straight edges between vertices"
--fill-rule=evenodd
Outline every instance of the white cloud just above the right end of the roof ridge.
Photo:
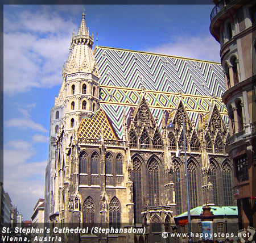
M 175 39 L 175 42 L 148 48 L 145 51 L 220 62 L 220 45 L 213 37 L 177 36 Z

